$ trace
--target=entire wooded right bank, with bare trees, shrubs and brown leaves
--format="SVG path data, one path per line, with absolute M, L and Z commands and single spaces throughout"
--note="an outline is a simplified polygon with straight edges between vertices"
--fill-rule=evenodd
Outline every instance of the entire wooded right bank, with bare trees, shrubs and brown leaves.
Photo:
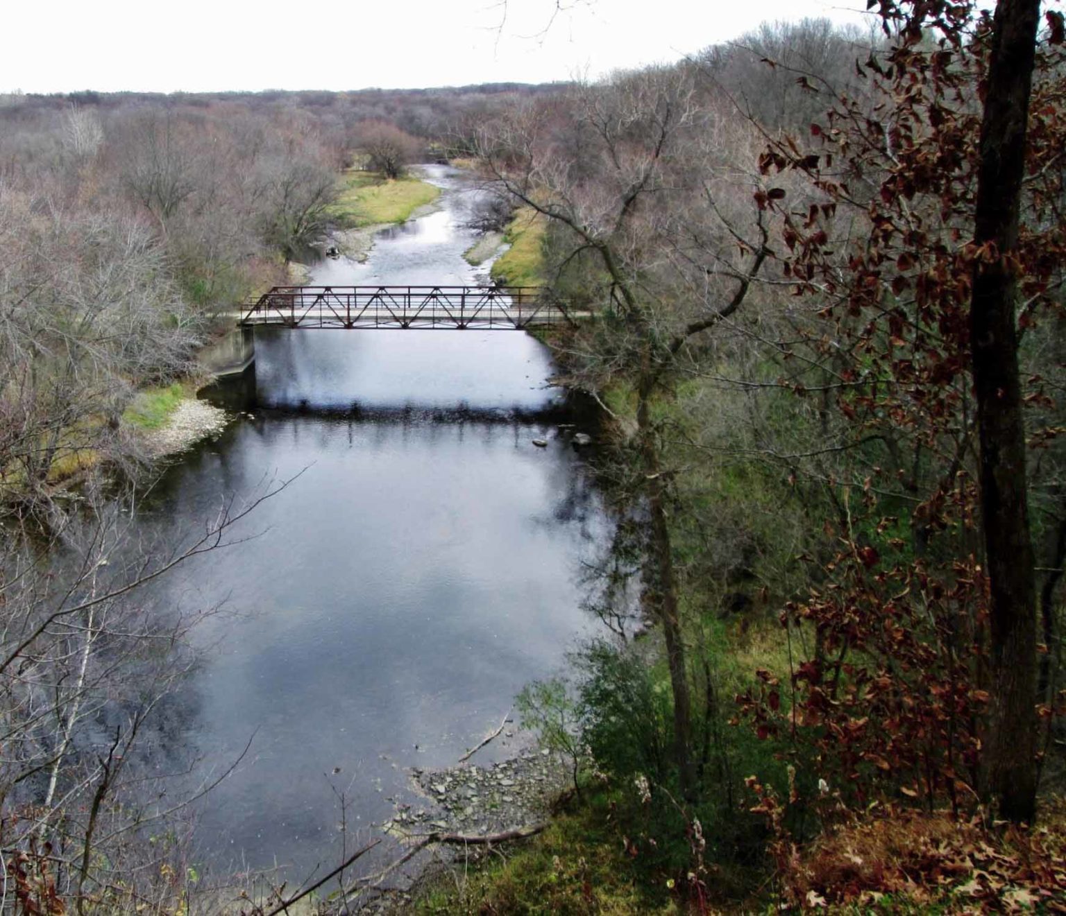
M 1062 19 L 882 6 L 480 134 L 601 310 L 560 350 L 626 521 L 618 638 L 524 697 L 586 794 L 448 905 L 1063 904 Z

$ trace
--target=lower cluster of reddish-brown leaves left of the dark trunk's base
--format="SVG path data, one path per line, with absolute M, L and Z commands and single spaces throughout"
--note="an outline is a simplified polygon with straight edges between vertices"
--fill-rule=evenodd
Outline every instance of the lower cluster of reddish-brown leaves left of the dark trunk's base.
M 919 561 L 879 566 L 845 539 L 834 578 L 791 604 L 786 626 L 811 625 L 819 651 L 780 685 L 760 672 L 740 698 L 760 737 L 792 742 L 796 760 L 866 805 L 902 792 L 957 811 L 976 798 L 976 689 L 984 580 L 972 559 L 952 570 Z M 782 702 L 782 689 L 790 702 Z

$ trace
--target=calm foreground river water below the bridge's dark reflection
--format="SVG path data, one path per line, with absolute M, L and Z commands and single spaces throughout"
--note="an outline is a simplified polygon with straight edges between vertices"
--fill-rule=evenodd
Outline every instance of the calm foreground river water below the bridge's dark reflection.
M 605 523 L 572 449 L 538 436 L 553 429 L 266 415 L 176 469 L 164 524 L 302 472 L 238 533 L 257 537 L 167 584 L 179 605 L 240 614 L 204 628 L 219 644 L 192 685 L 216 769 L 258 730 L 204 812 L 212 847 L 259 865 L 327 855 L 325 774 L 354 778 L 362 822 L 383 818 L 403 767 L 453 764 L 560 663 Z

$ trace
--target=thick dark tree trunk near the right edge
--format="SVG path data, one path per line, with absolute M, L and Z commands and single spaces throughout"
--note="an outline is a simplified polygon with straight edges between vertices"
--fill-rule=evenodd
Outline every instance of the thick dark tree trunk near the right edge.
M 1036 591 L 1018 378 L 1017 245 L 1039 0 L 1000 0 L 986 81 L 974 224 L 995 245 L 973 269 L 970 331 L 981 430 L 981 508 L 991 587 L 992 709 L 987 789 L 1000 816 L 1032 822 L 1036 805 Z

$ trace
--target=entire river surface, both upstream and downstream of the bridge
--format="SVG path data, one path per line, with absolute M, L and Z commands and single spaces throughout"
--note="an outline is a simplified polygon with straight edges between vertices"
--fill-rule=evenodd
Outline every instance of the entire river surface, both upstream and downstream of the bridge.
M 477 192 L 426 171 L 438 210 L 311 282 L 484 280 L 462 258 Z M 258 537 L 183 567 L 163 595 L 230 611 L 201 632 L 211 649 L 187 688 L 201 771 L 255 735 L 198 807 L 203 860 L 298 879 L 338 862 L 335 790 L 366 837 L 388 798 L 409 797 L 407 768 L 454 765 L 592 632 L 581 560 L 609 522 L 567 436 L 529 419 L 560 394 L 527 334 L 256 333 L 259 406 L 167 472 L 144 524 L 201 524 L 227 495 L 300 475 L 242 523 Z

